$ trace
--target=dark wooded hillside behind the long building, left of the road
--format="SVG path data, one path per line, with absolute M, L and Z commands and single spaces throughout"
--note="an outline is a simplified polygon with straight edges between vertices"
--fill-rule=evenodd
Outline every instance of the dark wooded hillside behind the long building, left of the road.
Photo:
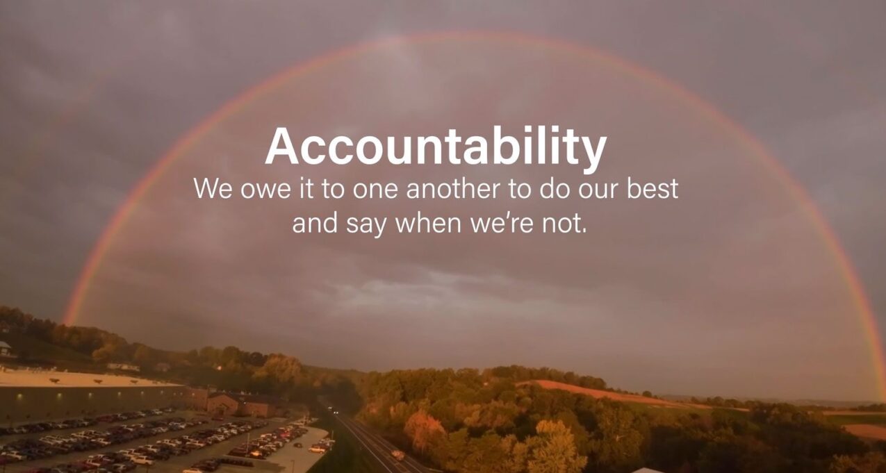
M 76 353 L 104 367 L 110 362 L 134 364 L 147 375 L 224 391 L 255 392 L 284 399 L 314 400 L 318 394 L 337 399 L 356 397 L 356 374 L 306 367 L 282 353 L 246 352 L 236 346 L 205 346 L 188 352 L 159 350 L 129 343 L 94 327 L 69 327 L 0 306 L 0 327 Z

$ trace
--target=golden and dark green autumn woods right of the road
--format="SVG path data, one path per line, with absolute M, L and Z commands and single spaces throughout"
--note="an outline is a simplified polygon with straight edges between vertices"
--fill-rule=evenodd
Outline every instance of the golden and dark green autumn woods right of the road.
M 359 417 L 458 473 L 886 471 L 881 446 L 788 404 L 644 407 L 544 390 L 509 370 L 370 373 Z

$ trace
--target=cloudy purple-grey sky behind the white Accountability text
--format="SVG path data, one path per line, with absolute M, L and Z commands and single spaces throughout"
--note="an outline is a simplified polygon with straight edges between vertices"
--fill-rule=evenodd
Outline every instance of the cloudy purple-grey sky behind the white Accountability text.
M 120 226 L 78 323 L 161 347 L 239 345 L 339 368 L 519 363 L 632 390 L 875 399 L 874 363 L 834 252 L 808 203 L 746 136 L 811 196 L 886 323 L 884 18 L 882 2 L 4 3 L 0 304 L 61 320 L 128 194 L 208 123 Z M 367 43 L 376 45 L 286 74 L 206 122 L 275 74 Z M 260 164 L 280 125 L 304 137 L 531 123 L 609 136 L 600 171 Z M 216 175 L 631 175 L 678 179 L 683 193 L 663 202 L 194 198 L 190 179 Z M 588 232 L 372 241 L 289 231 L 294 215 L 335 210 L 579 212 Z

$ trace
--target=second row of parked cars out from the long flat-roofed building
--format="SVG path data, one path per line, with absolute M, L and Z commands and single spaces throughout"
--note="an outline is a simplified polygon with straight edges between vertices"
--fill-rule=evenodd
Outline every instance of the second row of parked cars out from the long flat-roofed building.
M 51 434 L 41 438 L 20 438 L 0 446 L 0 465 L 96 450 L 127 443 L 137 438 L 152 437 L 170 430 L 183 430 L 206 422 L 204 419 L 185 421 L 182 417 L 172 417 L 113 425 L 105 430 L 80 430 L 67 435 Z

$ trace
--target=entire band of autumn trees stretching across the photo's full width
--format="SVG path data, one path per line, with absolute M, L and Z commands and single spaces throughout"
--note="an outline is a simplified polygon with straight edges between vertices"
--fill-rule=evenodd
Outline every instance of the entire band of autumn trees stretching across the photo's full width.
M 363 375 L 234 346 L 165 351 L 5 306 L 0 306 L 0 327 L 88 355 L 97 366 L 135 363 L 153 376 L 184 384 L 287 399 L 323 394 L 455 473 L 619 473 L 641 467 L 668 473 L 886 472 L 882 444 L 868 445 L 826 422 L 820 412 L 788 404 L 713 398 L 702 402 L 727 408 L 656 408 L 526 383 L 544 379 L 611 390 L 600 378 L 551 368 Z

